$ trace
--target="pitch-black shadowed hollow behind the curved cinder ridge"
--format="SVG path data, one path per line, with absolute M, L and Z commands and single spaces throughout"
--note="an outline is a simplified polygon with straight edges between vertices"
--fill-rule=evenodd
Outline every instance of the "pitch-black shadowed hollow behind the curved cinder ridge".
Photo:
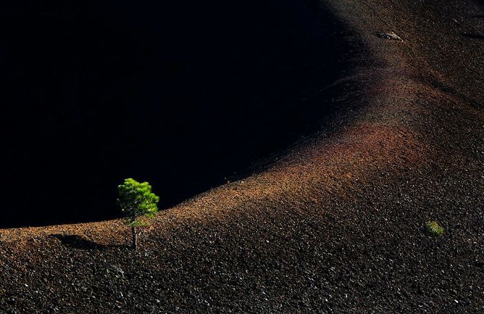
M 149 181 L 167 208 L 331 109 L 317 91 L 344 47 L 316 1 L 11 2 L 0 5 L 2 227 L 115 217 L 125 177 Z

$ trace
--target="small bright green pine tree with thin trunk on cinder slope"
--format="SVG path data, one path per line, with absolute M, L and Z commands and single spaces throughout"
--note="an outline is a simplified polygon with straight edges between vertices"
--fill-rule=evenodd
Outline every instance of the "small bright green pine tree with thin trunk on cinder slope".
M 133 248 L 136 249 L 136 227 L 147 226 L 149 218 L 158 213 L 160 197 L 151 192 L 148 182 L 138 182 L 135 179 L 125 179 L 118 186 L 118 204 L 124 215 L 124 223 L 131 226 Z

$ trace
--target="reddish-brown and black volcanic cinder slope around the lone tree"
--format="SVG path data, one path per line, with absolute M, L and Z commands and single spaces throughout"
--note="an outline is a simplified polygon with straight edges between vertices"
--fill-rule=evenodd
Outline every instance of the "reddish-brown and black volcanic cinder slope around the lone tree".
M 321 5 L 353 47 L 322 133 L 162 211 L 136 253 L 117 220 L 1 230 L 0 311 L 484 311 L 484 9 Z

